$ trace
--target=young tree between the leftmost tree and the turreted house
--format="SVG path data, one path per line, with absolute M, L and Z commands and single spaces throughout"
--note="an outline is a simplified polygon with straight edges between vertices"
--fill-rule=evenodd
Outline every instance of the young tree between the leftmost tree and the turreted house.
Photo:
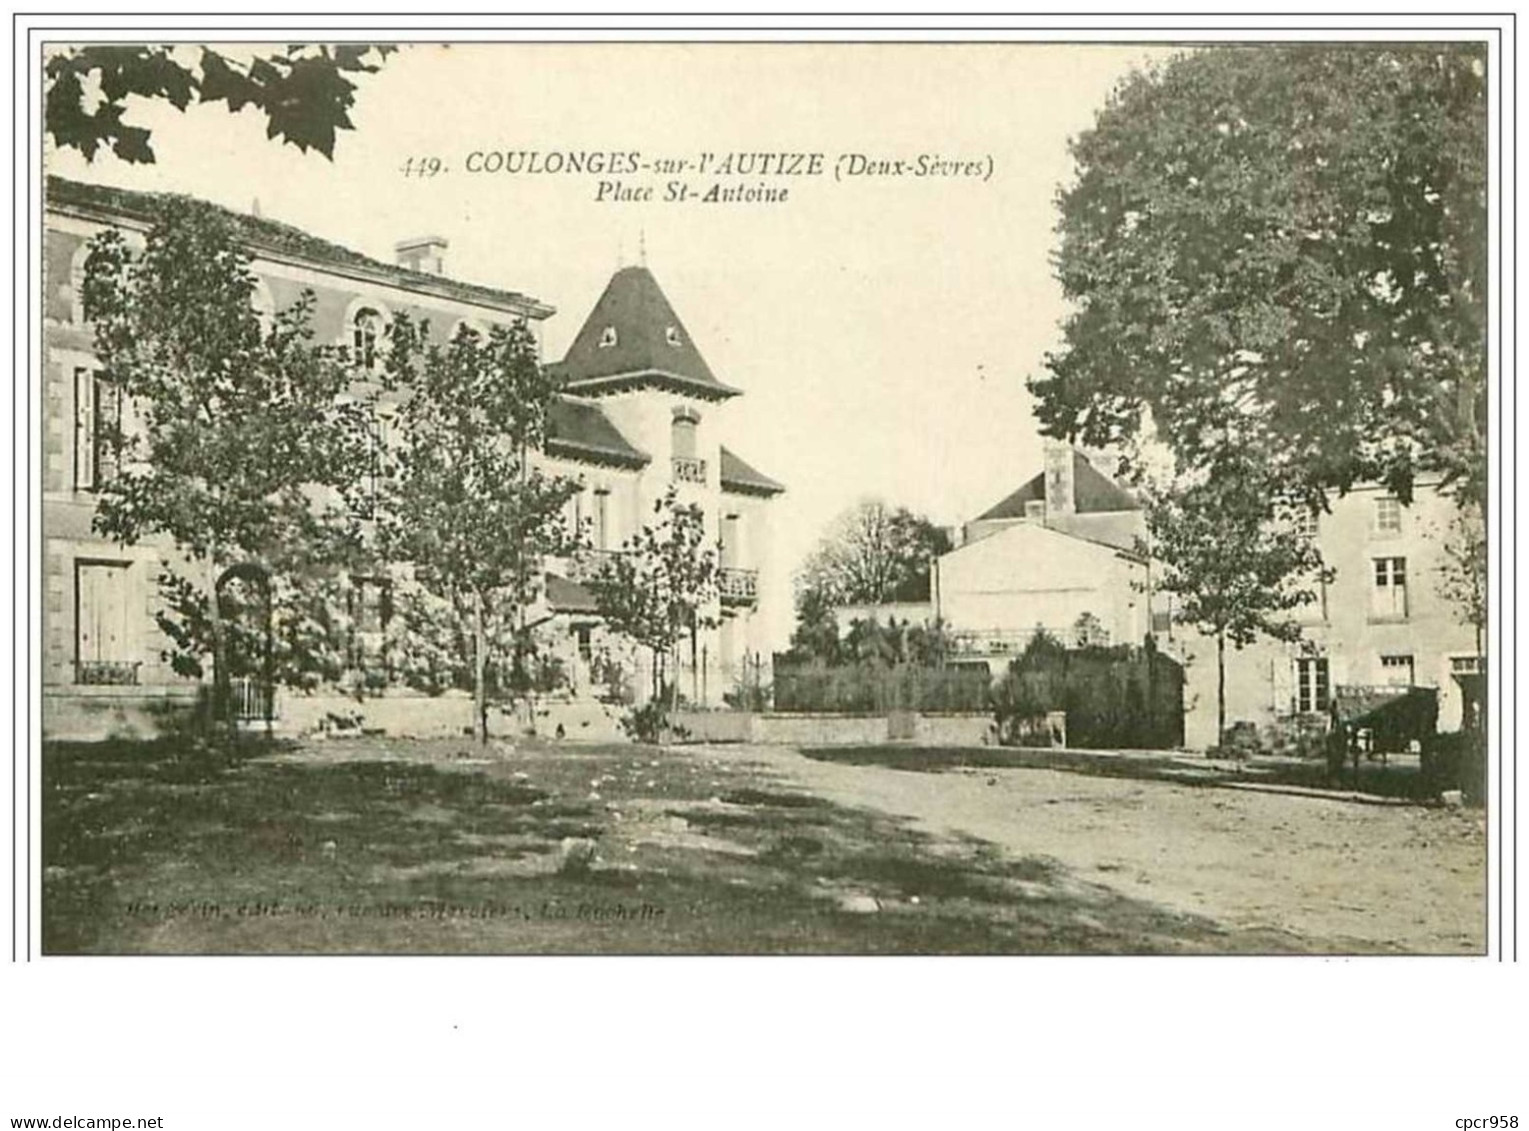
M 531 330 L 495 326 L 485 338 L 462 327 L 440 345 L 427 329 L 407 315 L 388 327 L 384 385 L 402 400 L 378 549 L 407 564 L 401 669 L 471 688 L 486 743 L 489 691 L 514 689 L 524 671 L 524 610 L 541 593 L 543 558 L 576 543 L 563 512 L 579 484 L 535 466 L 557 384 Z

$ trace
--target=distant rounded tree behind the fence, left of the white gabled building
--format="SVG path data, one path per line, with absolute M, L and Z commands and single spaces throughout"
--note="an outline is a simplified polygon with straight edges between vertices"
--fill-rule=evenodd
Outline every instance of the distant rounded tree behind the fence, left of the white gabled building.
M 798 576 L 798 595 L 829 605 L 928 599 L 930 562 L 950 535 L 907 507 L 872 500 L 841 514 Z M 798 605 L 801 596 L 798 596 Z

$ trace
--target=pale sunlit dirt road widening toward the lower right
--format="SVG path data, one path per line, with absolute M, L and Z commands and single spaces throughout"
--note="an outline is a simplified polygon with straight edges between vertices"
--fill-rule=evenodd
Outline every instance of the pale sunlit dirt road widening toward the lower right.
M 1032 769 L 942 773 L 708 747 L 844 805 L 1047 856 L 1079 879 L 1321 949 L 1480 954 L 1485 818 Z

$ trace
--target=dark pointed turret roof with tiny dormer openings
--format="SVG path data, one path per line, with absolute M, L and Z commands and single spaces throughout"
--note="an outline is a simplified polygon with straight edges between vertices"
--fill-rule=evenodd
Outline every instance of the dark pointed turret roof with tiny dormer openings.
M 662 385 L 706 400 L 739 394 L 713 374 L 647 267 L 612 277 L 557 371 L 569 393 Z

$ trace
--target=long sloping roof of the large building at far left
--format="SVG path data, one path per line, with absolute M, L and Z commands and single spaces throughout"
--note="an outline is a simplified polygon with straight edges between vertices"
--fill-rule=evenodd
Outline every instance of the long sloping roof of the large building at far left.
M 125 219 L 141 223 L 153 223 L 156 205 L 168 197 L 168 193 L 141 193 L 113 185 L 89 185 L 81 180 L 66 180 L 64 177 L 47 177 L 44 203 L 55 211 L 80 212 L 87 217 Z M 205 203 L 205 202 L 203 202 Z M 459 301 L 476 303 L 515 313 L 529 313 L 534 318 L 547 318 L 553 309 L 546 303 L 529 298 L 518 290 L 500 290 L 479 283 L 462 283 L 443 275 L 428 275 L 419 271 L 401 267 L 396 263 L 382 263 L 368 255 L 362 255 L 350 248 L 330 243 L 301 228 L 289 223 L 268 220 L 261 216 L 235 212 L 222 205 L 208 205 L 234 222 L 240 238 L 255 254 L 268 252 L 292 260 L 301 260 L 318 267 L 358 274 L 393 286 L 420 290 L 425 293 L 443 295 Z

